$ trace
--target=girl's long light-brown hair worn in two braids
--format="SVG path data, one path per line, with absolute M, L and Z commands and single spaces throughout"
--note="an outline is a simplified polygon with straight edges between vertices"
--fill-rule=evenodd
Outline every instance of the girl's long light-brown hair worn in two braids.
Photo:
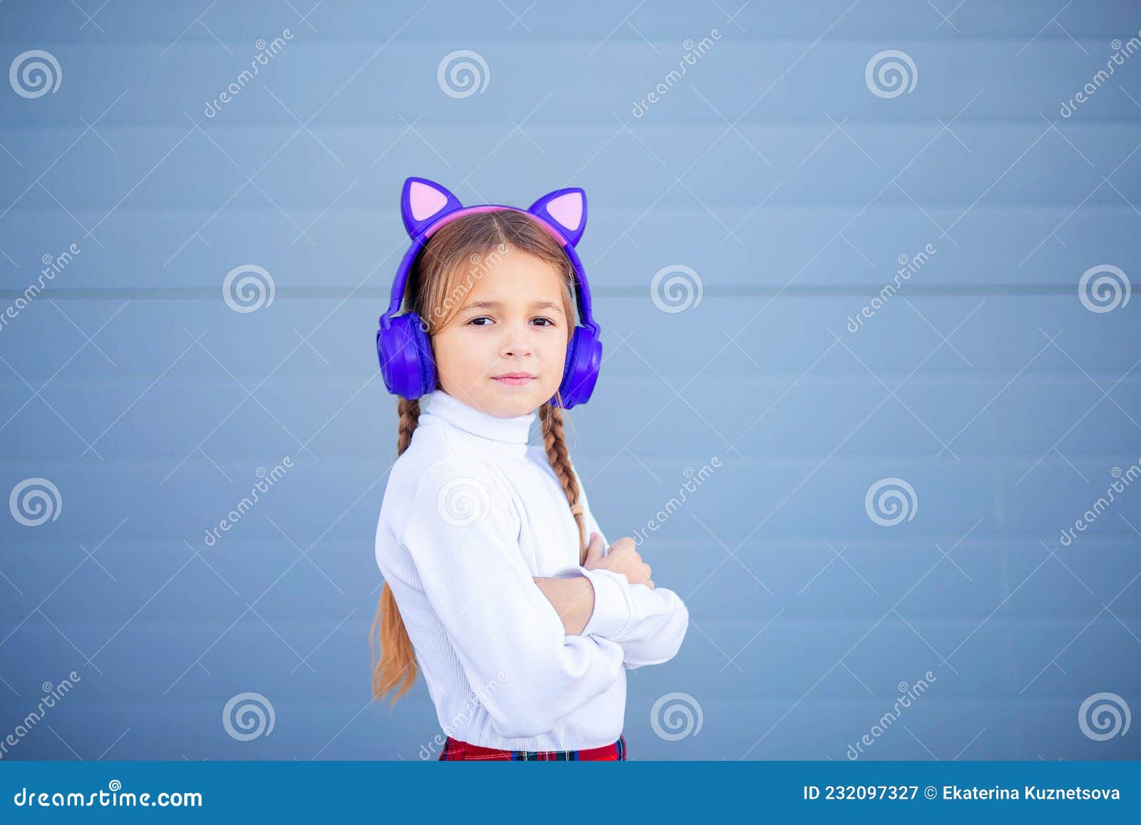
M 475 212 L 458 218 L 439 228 L 420 252 L 408 277 L 404 308 L 416 313 L 424 322 L 429 337 L 445 326 L 463 305 L 466 291 L 470 289 L 472 276 L 480 277 L 478 267 L 496 253 L 512 250 L 527 252 L 555 267 L 563 276 L 563 305 L 567 317 L 567 340 L 574 331 L 574 269 L 570 260 L 556 241 L 532 217 L 515 210 Z M 461 282 L 463 270 L 468 275 Z M 419 399 L 400 398 L 396 404 L 399 413 L 397 424 L 396 454 L 400 455 L 412 443 L 412 434 L 420 420 Z M 563 410 L 550 403 L 539 407 L 542 422 L 543 444 L 551 469 L 563 485 L 567 503 L 578 525 L 578 564 L 586 559 L 586 525 L 578 501 L 578 483 L 575 479 L 563 434 Z M 380 626 L 378 632 L 377 628 Z M 391 704 L 412 687 L 416 678 L 415 650 L 408 638 L 404 620 L 393 589 L 385 583 L 377 606 L 377 617 L 369 633 L 369 649 L 375 660 L 374 641 L 380 641 L 380 661 L 372 672 L 372 697 L 382 698 L 396 688 Z

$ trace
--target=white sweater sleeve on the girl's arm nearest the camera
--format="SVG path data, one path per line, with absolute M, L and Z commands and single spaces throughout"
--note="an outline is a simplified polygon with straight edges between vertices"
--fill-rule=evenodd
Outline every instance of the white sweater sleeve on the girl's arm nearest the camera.
M 492 726 L 531 737 L 607 690 L 623 648 L 566 634 L 519 553 L 519 517 L 503 496 L 482 464 L 436 462 L 416 484 L 400 543 Z

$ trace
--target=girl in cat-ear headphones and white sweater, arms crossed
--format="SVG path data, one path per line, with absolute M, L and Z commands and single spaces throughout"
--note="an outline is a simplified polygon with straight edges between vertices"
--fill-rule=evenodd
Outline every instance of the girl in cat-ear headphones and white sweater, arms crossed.
M 373 697 L 398 685 L 395 704 L 419 661 L 442 760 L 624 760 L 625 671 L 672 658 L 689 614 L 631 539 L 604 550 L 564 442 L 601 355 L 574 250 L 585 195 L 463 208 L 408 178 L 402 215 L 412 246 L 377 335 L 400 399 Z

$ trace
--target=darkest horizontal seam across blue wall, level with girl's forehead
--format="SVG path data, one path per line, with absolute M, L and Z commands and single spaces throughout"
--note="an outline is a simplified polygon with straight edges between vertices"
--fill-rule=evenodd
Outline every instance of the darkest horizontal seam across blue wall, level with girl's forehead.
M 863 285 L 820 284 L 796 286 L 709 286 L 702 291 L 703 298 L 763 298 L 777 294 L 790 297 L 842 298 L 877 293 L 883 284 Z M 592 296 L 609 298 L 645 298 L 646 286 L 591 286 Z M 1073 296 L 1077 282 L 1059 284 L 908 284 L 907 293 L 917 296 Z M 98 286 L 90 289 L 51 290 L 44 293 L 58 300 L 218 300 L 220 286 Z M 14 300 L 24 296 L 23 290 L 0 290 L 0 299 Z M 321 300 L 330 298 L 382 299 L 391 297 L 388 286 L 278 286 L 276 299 Z

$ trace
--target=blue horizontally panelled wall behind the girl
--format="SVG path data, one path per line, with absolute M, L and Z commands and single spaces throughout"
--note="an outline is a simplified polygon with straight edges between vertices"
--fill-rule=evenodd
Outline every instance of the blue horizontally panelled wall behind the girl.
M 1079 296 L 1141 274 L 1141 56 L 1094 79 L 1141 7 L 310 5 L 0 8 L 3 65 L 60 74 L 0 94 L 0 313 L 79 250 L 0 326 L 0 493 L 58 490 L 54 520 L 0 519 L 0 738 L 78 676 L 5 758 L 414 760 L 438 733 L 422 680 L 370 703 L 408 175 L 586 189 L 606 361 L 572 455 L 612 541 L 720 464 L 641 545 L 691 623 L 629 673 L 632 759 L 1141 757 L 1079 722 L 1141 710 L 1141 484 L 1061 541 L 1141 459 L 1141 298 Z M 482 91 L 438 81 L 459 49 Z M 909 91 L 868 84 L 888 49 Z M 248 264 L 274 299 L 235 312 Z M 885 478 L 914 491 L 893 526 Z M 275 725 L 238 741 L 246 691 Z M 667 694 L 699 730 L 652 718 Z

